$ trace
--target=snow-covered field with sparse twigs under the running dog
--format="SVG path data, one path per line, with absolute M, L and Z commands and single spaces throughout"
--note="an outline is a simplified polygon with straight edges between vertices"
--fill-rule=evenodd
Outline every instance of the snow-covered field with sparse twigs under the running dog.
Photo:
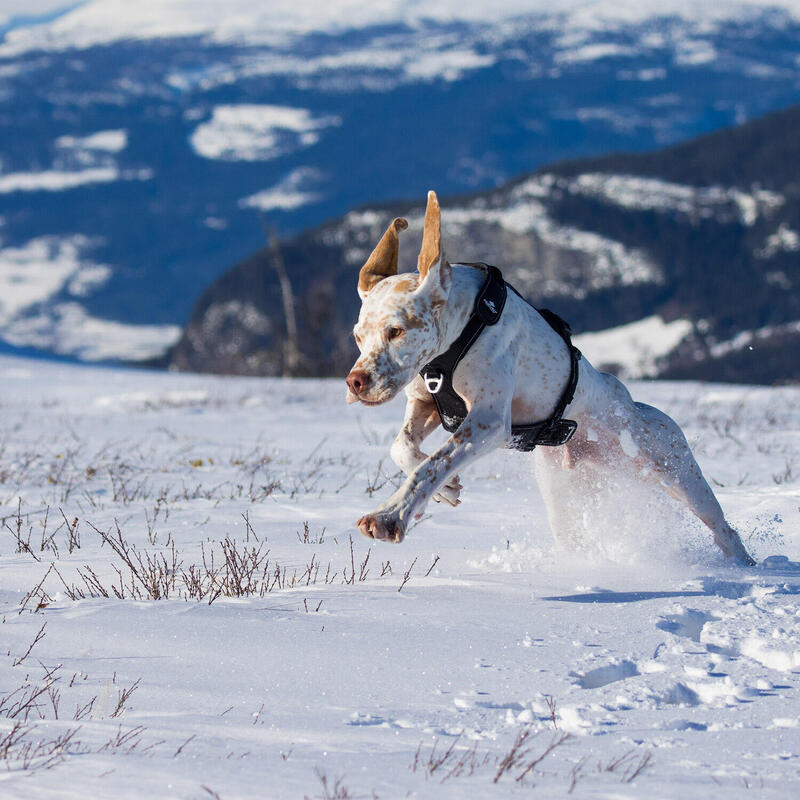
M 0 379 L 3 798 L 800 792 L 800 389 L 633 386 L 743 569 L 629 494 L 557 549 L 509 452 L 370 547 L 401 406 L 340 382 Z

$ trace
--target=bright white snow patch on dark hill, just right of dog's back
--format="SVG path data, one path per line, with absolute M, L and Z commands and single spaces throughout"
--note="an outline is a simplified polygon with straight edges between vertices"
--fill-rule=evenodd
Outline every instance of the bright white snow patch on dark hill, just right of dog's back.
M 574 340 L 593 364 L 616 365 L 625 377 L 642 378 L 655 375 L 658 359 L 674 350 L 691 330 L 690 320 L 664 322 L 653 316 L 604 331 L 581 333 Z

